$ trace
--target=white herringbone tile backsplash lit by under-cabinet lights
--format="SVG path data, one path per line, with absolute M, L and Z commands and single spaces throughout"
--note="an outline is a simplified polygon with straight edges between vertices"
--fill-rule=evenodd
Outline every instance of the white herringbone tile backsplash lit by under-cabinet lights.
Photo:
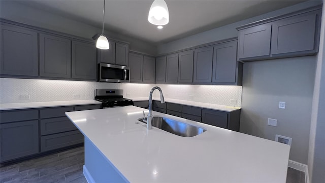
M 0 78 L 0 103 L 89 100 L 95 89 L 123 89 L 124 97 L 148 97 L 159 86 L 166 98 L 241 106 L 242 86 L 100 83 L 44 79 Z M 29 99 L 28 97 L 29 96 Z M 159 93 L 154 92 L 154 97 Z M 231 101 L 232 100 L 232 101 Z

